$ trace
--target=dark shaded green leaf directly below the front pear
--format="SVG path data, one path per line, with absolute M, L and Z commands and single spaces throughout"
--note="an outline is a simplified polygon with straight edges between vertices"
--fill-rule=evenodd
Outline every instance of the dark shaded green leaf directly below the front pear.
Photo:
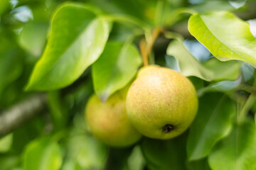
M 142 152 L 150 170 L 186 169 L 186 136 L 171 140 L 142 140 Z

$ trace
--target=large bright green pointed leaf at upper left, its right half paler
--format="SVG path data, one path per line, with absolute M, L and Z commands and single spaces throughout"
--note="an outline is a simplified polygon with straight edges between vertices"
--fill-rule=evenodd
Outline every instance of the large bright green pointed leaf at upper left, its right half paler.
M 96 18 L 86 6 L 60 6 L 53 15 L 46 50 L 26 89 L 53 90 L 72 84 L 100 57 L 109 32 L 109 23 Z

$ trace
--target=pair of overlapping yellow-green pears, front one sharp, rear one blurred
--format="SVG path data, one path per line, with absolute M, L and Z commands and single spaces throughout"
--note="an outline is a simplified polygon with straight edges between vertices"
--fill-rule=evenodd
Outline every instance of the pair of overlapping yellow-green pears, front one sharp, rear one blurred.
M 95 137 L 113 147 L 126 147 L 142 135 L 167 140 L 191 125 L 198 108 L 196 90 L 186 77 L 151 65 L 137 79 L 102 103 L 92 96 L 85 117 Z

